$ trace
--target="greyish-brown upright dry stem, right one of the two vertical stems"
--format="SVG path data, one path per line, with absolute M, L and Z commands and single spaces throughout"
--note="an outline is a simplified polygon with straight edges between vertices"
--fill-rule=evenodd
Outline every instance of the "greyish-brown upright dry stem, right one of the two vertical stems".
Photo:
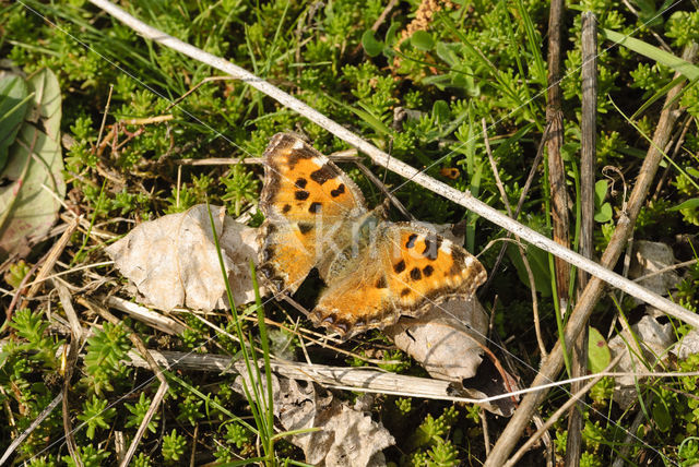
M 592 232 L 594 229 L 594 173 L 596 159 L 596 108 L 597 108 L 597 28 L 592 12 L 582 14 L 582 121 L 580 122 L 580 254 L 592 259 L 594 252 Z M 588 285 L 588 273 L 578 273 L 578 296 Z M 571 348 L 571 375 L 585 374 L 588 369 L 588 326 L 584 326 Z M 570 392 L 582 390 L 583 384 L 573 383 Z M 568 414 L 568 439 L 566 442 L 566 465 L 580 464 L 582 448 L 582 410 L 584 400 L 570 408 Z

